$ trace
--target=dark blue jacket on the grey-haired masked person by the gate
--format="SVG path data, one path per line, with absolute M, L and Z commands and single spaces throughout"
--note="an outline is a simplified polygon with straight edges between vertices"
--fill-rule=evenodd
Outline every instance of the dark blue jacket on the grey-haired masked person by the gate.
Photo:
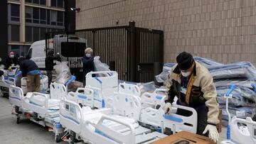
M 82 57 L 82 76 L 85 77 L 85 75 L 88 72 L 94 72 L 95 67 L 94 67 L 94 57 L 86 57 L 85 55 Z

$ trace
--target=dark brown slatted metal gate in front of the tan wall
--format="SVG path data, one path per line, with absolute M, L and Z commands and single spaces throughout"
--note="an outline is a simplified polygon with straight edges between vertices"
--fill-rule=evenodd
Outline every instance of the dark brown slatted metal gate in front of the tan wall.
M 58 40 L 60 38 L 56 35 L 65 35 L 65 42 L 68 42 L 71 36 L 87 41 L 87 48 L 92 48 L 94 55 L 99 55 L 100 60 L 110 65 L 110 70 L 117 71 L 119 79 L 125 81 L 153 81 L 154 65 L 161 67 L 164 62 L 164 32 L 136 28 L 134 22 L 130 22 L 129 26 L 46 33 L 47 50 L 50 48 L 47 39 L 55 40 L 54 50 L 58 47 L 57 45 L 60 45 L 58 43 L 64 42 Z M 79 79 L 82 69 L 81 57 L 75 59 L 65 57 L 65 60 L 70 61 L 70 69 Z

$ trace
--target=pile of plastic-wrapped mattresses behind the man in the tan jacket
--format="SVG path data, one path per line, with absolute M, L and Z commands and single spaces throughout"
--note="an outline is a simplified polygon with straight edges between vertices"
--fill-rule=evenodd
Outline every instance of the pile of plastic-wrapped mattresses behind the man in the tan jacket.
M 220 108 L 224 111 L 223 120 L 228 119 L 225 113 L 224 94 L 228 92 L 231 84 L 236 85 L 235 90 L 232 92 L 233 98 L 229 99 L 231 116 L 241 118 L 253 116 L 256 107 L 256 94 L 250 84 L 256 83 L 256 68 L 250 62 L 223 65 L 202 57 L 194 57 L 194 60 L 204 65 L 213 75 L 213 81 L 217 89 L 217 99 Z M 174 65 L 175 63 L 164 64 L 163 72 L 156 76 L 157 82 L 163 82 L 165 85 L 171 67 Z

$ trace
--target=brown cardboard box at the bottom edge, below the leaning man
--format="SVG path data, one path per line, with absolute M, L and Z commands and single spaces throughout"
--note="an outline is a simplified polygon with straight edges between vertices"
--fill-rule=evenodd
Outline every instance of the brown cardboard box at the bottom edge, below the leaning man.
M 151 144 L 215 144 L 206 136 L 181 131 L 174 135 L 169 135 L 166 138 L 157 140 Z

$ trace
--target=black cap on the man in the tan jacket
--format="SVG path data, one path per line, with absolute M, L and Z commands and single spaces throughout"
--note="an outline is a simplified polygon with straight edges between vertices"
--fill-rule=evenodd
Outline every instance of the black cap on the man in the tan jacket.
M 188 52 L 181 52 L 176 57 L 178 67 L 180 70 L 188 70 L 193 65 L 193 56 Z

